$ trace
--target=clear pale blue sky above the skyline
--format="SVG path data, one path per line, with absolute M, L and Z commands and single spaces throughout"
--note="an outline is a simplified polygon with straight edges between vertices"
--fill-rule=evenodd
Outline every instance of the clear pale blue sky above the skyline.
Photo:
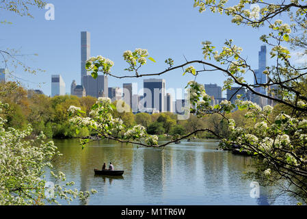
M 41 89 L 51 94 L 51 75 L 62 75 L 66 92 L 70 92 L 73 79 L 80 83 L 81 31 L 90 31 L 91 55 L 103 55 L 113 60 L 112 72 L 126 75 L 126 62 L 122 53 L 136 48 L 148 49 L 157 63 L 148 61 L 142 73 L 155 73 L 165 69 L 164 60 L 172 57 L 175 65 L 187 60 L 202 59 L 204 40 L 223 46 L 232 38 L 243 47 L 243 55 L 248 57 L 253 68 L 258 68 L 259 37 L 264 29 L 237 26 L 231 18 L 204 12 L 193 8 L 193 0 L 50 0 L 55 5 L 55 21 L 46 21 L 46 10 L 31 9 L 34 18 L 19 17 L 11 12 L 0 11 L 1 21 L 11 21 L 12 25 L 0 25 L 0 48 L 19 49 L 21 54 L 38 53 L 27 56 L 23 61 L 32 67 L 42 68 L 46 73 L 29 75 L 20 68 L 15 75 L 23 78 L 26 88 Z M 1 66 L 0 66 L 1 67 Z M 13 69 L 12 69 L 13 70 Z M 166 88 L 184 88 L 190 75 L 183 76 L 176 70 L 161 77 Z M 199 83 L 217 83 L 222 86 L 222 73 L 202 73 Z M 138 82 L 142 88 L 143 79 L 114 79 L 109 77 L 109 87 L 122 87 L 122 83 Z M 31 81 L 31 82 L 27 82 Z M 249 78 L 252 82 L 252 78 Z M 39 88 L 38 83 L 44 83 Z M 135 92 L 135 91 L 133 91 Z

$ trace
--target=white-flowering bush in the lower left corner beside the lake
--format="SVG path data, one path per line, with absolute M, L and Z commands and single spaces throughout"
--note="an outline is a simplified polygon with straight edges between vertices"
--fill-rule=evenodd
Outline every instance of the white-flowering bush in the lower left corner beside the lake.
M 0 205 L 58 204 L 59 199 L 85 200 L 90 192 L 68 189 L 74 182 L 66 182 L 63 172 L 51 175 L 54 183 L 46 181 L 44 172 L 52 168 L 51 162 L 60 154 L 52 141 L 45 142 L 43 133 L 34 140 L 27 140 L 31 126 L 23 131 L 8 128 L 1 115 L 8 105 L 0 102 Z M 92 190 L 92 193 L 95 193 Z

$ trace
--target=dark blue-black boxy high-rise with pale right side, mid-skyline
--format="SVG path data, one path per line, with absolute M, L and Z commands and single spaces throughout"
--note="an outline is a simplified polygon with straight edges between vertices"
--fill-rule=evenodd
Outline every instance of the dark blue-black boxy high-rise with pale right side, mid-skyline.
M 144 107 L 164 112 L 165 80 L 144 79 Z

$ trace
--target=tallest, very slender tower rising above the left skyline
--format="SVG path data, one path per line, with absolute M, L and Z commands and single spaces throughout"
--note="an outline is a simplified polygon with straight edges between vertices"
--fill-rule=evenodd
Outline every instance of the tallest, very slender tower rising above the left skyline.
M 86 61 L 90 59 L 90 32 L 82 31 L 81 32 L 81 85 L 83 84 L 83 76 L 90 75 L 85 68 Z

